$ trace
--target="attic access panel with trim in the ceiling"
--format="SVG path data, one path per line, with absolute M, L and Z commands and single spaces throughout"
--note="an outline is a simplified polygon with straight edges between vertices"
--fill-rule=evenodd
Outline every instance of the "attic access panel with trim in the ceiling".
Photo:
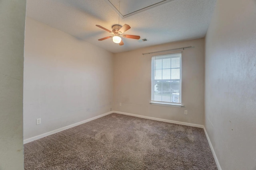
M 119 11 L 120 1 L 120 11 Z M 127 18 L 173 0 L 106 0 L 121 18 Z

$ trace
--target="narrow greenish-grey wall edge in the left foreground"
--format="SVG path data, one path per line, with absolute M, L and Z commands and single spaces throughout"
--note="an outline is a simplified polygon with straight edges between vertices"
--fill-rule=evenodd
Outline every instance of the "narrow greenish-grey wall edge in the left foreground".
M 0 170 L 23 169 L 26 0 L 0 1 Z

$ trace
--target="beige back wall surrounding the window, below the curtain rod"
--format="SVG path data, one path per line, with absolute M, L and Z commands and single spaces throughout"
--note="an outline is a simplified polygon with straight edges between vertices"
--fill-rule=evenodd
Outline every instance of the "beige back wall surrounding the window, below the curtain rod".
M 150 105 L 152 51 L 192 46 L 182 52 L 182 104 L 184 107 Z M 175 51 L 170 51 L 170 53 Z M 154 54 L 156 55 L 156 54 Z M 167 43 L 114 55 L 114 110 L 203 125 L 204 39 Z M 119 106 L 122 103 L 122 106 Z M 188 110 L 188 115 L 184 115 Z

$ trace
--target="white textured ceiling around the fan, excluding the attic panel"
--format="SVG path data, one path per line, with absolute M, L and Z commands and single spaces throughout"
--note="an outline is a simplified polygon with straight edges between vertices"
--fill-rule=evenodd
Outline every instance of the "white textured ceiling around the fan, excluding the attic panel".
M 148 39 L 143 42 L 122 38 L 122 46 L 112 39 L 98 41 L 112 34 L 95 25 L 112 30 L 112 25 L 118 24 L 118 14 L 106 0 L 27 0 L 27 16 L 112 53 L 118 53 L 204 37 L 215 3 L 216 0 L 174 0 L 128 18 L 120 18 L 120 25 L 126 23 L 131 27 L 125 34 Z

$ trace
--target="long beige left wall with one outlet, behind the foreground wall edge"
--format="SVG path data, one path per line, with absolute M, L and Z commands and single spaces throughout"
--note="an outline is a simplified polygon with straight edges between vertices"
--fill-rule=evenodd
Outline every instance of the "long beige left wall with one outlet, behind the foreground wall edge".
M 26 19 L 24 139 L 107 113 L 112 96 L 112 53 Z

